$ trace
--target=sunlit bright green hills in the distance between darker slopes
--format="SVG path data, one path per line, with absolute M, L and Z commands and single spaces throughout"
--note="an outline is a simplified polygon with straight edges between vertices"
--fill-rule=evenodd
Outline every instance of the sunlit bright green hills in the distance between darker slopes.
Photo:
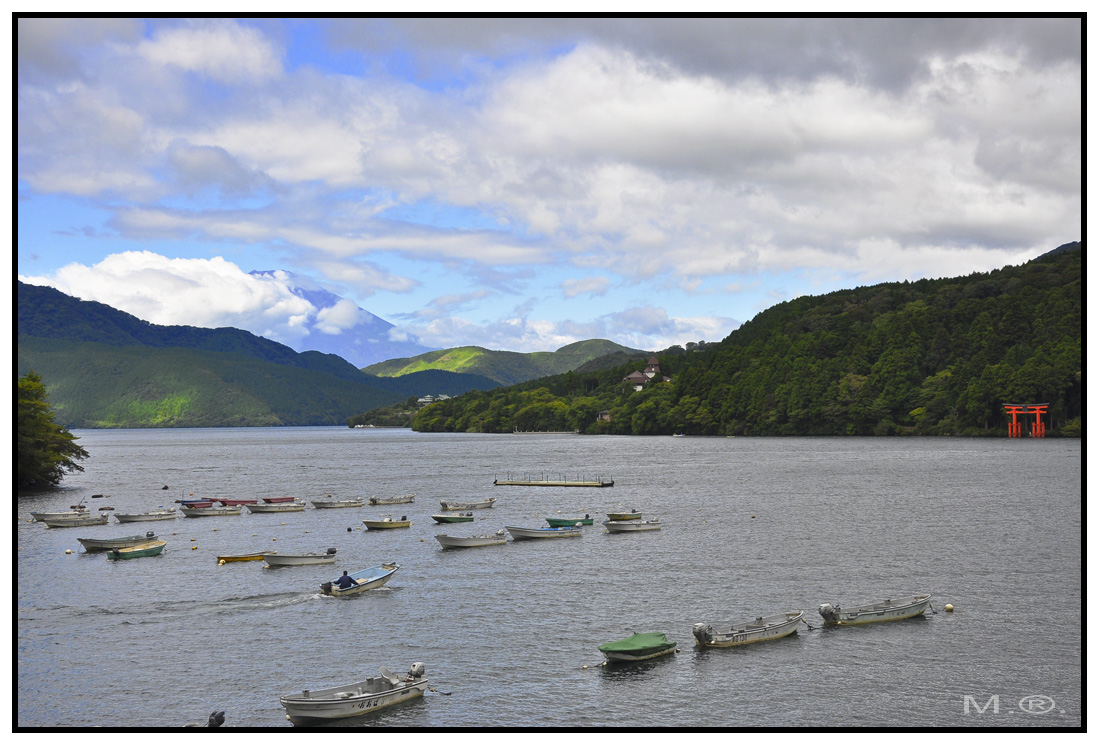
M 502 386 L 574 370 L 609 354 L 645 354 L 602 338 L 576 342 L 556 352 L 495 352 L 479 346 L 459 346 L 428 352 L 415 357 L 389 359 L 364 367 L 379 377 L 399 377 L 422 370 L 449 370 L 481 375 Z

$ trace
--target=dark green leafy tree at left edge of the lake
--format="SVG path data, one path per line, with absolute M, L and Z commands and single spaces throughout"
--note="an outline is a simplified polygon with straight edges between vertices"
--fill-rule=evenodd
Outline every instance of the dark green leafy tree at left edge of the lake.
M 57 486 L 66 471 L 84 470 L 76 460 L 88 452 L 71 432 L 54 422 L 42 377 L 30 370 L 15 381 L 16 488 Z

